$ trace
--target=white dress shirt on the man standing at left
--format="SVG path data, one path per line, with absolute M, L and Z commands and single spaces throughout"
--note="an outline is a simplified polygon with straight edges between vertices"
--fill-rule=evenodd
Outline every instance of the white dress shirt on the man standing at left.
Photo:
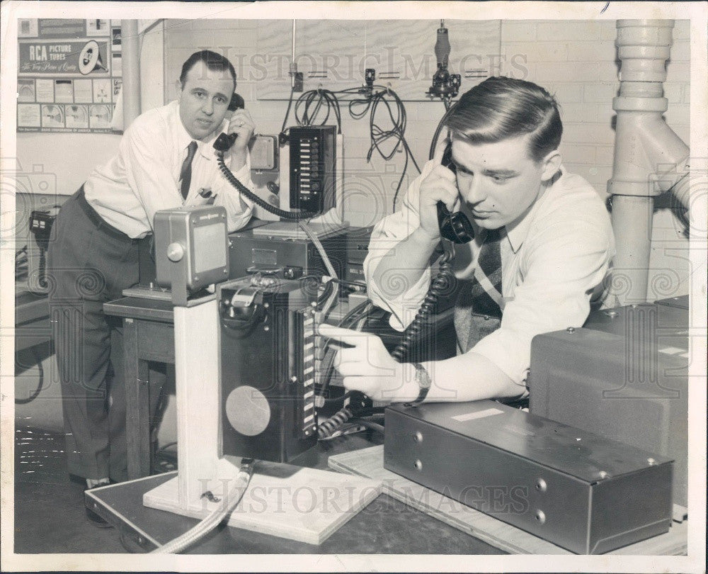
M 84 184 L 86 201 L 106 223 L 128 237 L 144 237 L 152 232 L 155 212 L 180 206 L 199 206 L 210 201 L 200 191 L 208 189 L 214 204 L 227 210 L 229 232 L 244 227 L 251 218 L 253 204 L 229 184 L 217 166 L 212 144 L 227 120 L 209 141 L 197 142 L 192 160 L 192 179 L 186 201 L 178 183 L 187 148 L 193 138 L 179 117 L 173 101 L 136 118 L 120 140 L 118 154 L 96 167 Z M 224 154 L 229 165 L 230 154 Z M 250 158 L 234 176 L 246 187 L 251 183 Z

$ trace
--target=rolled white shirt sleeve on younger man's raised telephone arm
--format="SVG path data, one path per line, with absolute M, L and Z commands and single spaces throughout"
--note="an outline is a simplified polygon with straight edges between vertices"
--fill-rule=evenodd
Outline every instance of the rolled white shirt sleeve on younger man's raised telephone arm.
M 411 323 L 428 293 L 430 268 L 424 269 L 421 277 L 413 285 L 396 272 L 395 267 L 384 274 L 380 285 L 374 281 L 373 276 L 382 259 L 420 226 L 421 220 L 418 215 L 420 184 L 434 165 L 428 162 L 423 167 L 423 173 L 413 180 L 401 208 L 375 225 L 369 242 L 369 252 L 364 260 L 367 294 L 372 303 L 392 314 L 389 324 L 399 331 L 404 330 Z M 395 257 L 395 251 L 391 257 Z

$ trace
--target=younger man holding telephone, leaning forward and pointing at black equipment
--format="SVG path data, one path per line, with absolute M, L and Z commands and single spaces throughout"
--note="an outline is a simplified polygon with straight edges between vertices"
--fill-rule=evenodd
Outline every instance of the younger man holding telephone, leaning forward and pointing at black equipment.
M 561 166 L 562 125 L 547 91 L 489 78 L 462 96 L 445 125 L 447 154 L 440 147 L 401 209 L 377 224 L 364 271 L 370 298 L 402 329 L 430 286 L 438 202 L 466 216 L 474 240 L 456 244 L 450 261 L 461 285 L 457 356 L 399 364 L 375 335 L 320 327 L 351 346 L 336 359 L 344 386 L 374 400 L 525 396 L 532 337 L 583 325 L 614 255 L 603 201 Z

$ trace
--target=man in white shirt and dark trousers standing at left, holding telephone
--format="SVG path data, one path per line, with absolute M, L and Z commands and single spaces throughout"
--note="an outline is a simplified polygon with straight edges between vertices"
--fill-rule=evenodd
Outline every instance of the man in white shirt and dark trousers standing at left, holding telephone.
M 195 52 L 183 65 L 177 101 L 133 121 L 118 154 L 93 170 L 53 226 L 50 305 L 67 461 L 89 487 L 127 478 L 120 329 L 103 303 L 137 283 L 138 243 L 152 232 L 155 212 L 213 201 L 226 208 L 229 231 L 251 218 L 251 203 L 219 171 L 212 147 L 219 133 L 236 134 L 224 162 L 252 187 L 253 121 L 244 109 L 226 119 L 235 88 L 229 60 Z

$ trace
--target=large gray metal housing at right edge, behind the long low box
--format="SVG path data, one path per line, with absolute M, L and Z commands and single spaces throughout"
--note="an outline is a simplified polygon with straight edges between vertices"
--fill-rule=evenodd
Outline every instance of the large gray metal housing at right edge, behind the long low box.
M 531 344 L 530 410 L 674 460 L 687 506 L 688 310 L 672 298 L 590 313 Z

